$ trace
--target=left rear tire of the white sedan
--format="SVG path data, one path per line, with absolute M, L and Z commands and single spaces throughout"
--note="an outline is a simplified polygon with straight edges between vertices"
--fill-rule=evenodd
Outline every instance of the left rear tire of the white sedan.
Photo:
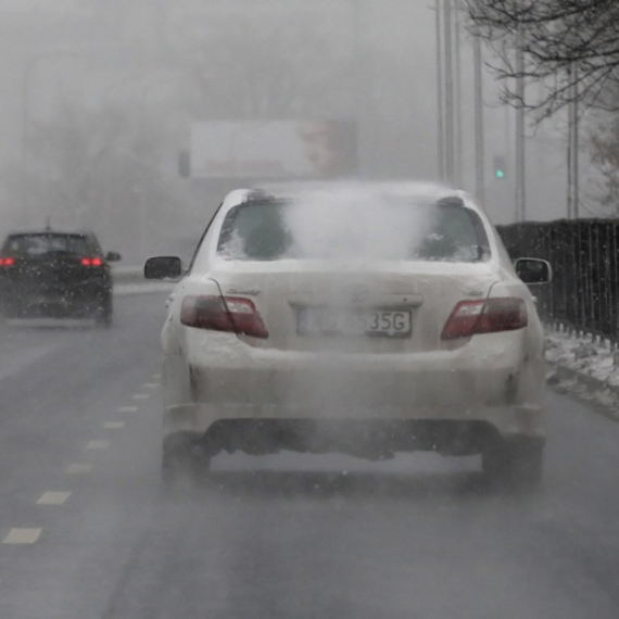
M 162 444 L 161 478 L 165 487 L 195 483 L 206 478 L 211 457 L 195 435 L 179 432 L 167 435 Z

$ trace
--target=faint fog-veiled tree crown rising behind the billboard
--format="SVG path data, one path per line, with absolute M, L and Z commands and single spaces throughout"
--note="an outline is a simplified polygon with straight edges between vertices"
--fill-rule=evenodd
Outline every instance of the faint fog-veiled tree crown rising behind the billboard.
M 178 63 L 192 73 L 195 117 L 286 118 L 352 103 L 345 47 L 312 24 L 223 22 Z

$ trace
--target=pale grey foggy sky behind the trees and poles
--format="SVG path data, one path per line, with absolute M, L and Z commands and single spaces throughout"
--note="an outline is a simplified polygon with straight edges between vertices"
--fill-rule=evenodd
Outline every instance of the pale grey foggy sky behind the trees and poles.
M 53 118 L 66 100 L 90 108 L 124 105 L 129 112 L 148 106 L 151 116 L 173 127 L 167 144 L 172 168 L 177 151 L 188 140 L 190 123 L 205 119 L 182 109 L 185 93 L 191 89 L 188 79 L 169 78 L 186 62 L 184 54 L 207 33 L 220 34 L 222 24 L 235 20 L 245 20 L 256 30 L 296 21 L 333 41 L 342 58 L 362 59 L 353 86 L 346 86 L 354 92 L 349 96 L 349 108 L 332 105 L 332 113 L 358 123 L 362 175 L 434 179 L 431 5 L 429 0 L 317 0 L 310 8 L 294 0 L 0 0 L 0 166 L 20 157 L 27 91 L 30 122 L 35 123 Z M 471 63 L 465 37 L 462 186 L 475 191 Z M 167 79 L 167 84 L 153 86 L 144 96 L 144 83 L 153 79 Z M 332 87 L 333 101 L 337 88 Z M 498 105 L 497 87 L 488 74 L 485 98 L 487 210 L 497 223 L 508 222 L 514 211 L 513 168 L 505 181 L 496 181 L 492 160 L 501 154 L 509 161 L 513 119 Z M 556 128 L 543 128 L 538 135 L 540 139 L 529 140 L 528 146 L 529 214 L 534 219 L 556 218 L 565 212 L 565 143 Z M 11 225 L 2 217 L 7 200 L 2 197 L 3 226 Z

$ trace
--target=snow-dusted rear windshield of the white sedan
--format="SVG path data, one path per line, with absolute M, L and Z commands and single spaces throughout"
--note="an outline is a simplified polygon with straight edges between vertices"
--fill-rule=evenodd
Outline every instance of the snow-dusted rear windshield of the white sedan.
M 217 252 L 226 260 L 386 258 L 481 262 L 490 256 L 480 217 L 462 201 L 382 201 L 368 206 L 254 201 L 227 214 Z

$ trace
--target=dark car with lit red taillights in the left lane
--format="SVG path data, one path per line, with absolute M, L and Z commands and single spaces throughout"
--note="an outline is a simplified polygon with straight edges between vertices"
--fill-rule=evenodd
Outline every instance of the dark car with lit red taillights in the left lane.
M 94 318 L 112 323 L 110 262 L 91 232 L 9 235 L 0 250 L 0 307 L 5 318 Z

